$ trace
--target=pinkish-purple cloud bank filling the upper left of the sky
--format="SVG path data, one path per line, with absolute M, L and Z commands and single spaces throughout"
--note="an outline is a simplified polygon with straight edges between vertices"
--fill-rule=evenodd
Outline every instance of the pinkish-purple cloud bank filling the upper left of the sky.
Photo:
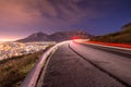
M 85 16 L 99 17 L 98 11 L 92 7 L 94 3 L 94 0 L 1 0 L 0 20 L 9 25 L 75 24 Z

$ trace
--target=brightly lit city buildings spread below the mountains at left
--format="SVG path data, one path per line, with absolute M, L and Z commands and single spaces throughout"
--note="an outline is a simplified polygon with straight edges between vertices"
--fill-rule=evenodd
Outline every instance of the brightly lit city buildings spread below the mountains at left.
M 45 50 L 55 42 L 4 42 L 0 44 L 0 60 Z

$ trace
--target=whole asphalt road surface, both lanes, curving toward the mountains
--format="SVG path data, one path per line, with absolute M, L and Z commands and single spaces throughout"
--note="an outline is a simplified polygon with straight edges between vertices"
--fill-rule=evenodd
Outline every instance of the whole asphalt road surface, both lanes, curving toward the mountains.
M 41 87 L 130 87 L 130 54 L 97 47 L 75 42 L 60 46 L 40 77 Z

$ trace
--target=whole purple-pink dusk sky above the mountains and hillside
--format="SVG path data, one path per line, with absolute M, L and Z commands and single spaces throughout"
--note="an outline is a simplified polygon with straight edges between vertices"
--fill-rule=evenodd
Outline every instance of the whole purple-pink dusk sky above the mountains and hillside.
M 37 32 L 104 35 L 131 22 L 131 0 L 0 0 L 0 41 Z

